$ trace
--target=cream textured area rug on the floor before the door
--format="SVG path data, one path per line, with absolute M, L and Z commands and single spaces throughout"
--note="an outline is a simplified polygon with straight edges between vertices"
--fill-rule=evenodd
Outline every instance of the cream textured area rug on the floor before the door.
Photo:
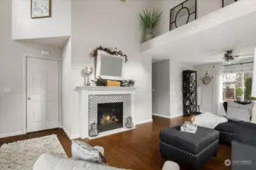
M 1 170 L 32 170 L 34 162 L 43 153 L 67 157 L 57 135 L 17 141 L 0 148 Z

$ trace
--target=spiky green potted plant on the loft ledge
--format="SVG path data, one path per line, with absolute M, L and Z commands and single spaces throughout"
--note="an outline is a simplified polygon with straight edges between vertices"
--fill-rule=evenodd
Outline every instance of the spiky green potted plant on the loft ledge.
M 153 12 L 148 11 L 145 9 L 143 14 L 139 14 L 141 23 L 144 25 L 144 29 L 146 31 L 146 42 L 150 39 L 153 39 L 153 31 L 156 29 L 157 23 L 160 20 L 163 11 L 155 11 Z

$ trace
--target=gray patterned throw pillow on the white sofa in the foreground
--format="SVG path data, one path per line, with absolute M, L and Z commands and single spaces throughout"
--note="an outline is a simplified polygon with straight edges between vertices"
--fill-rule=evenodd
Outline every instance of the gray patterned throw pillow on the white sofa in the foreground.
M 106 159 L 99 150 L 81 141 L 72 141 L 71 153 L 74 159 L 106 164 Z

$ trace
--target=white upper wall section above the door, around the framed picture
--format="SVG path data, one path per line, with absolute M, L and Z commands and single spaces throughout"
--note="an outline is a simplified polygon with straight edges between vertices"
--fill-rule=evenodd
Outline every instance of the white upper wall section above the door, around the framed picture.
M 53 0 L 52 17 L 31 19 L 30 0 L 12 0 L 12 39 L 71 36 L 71 1 Z

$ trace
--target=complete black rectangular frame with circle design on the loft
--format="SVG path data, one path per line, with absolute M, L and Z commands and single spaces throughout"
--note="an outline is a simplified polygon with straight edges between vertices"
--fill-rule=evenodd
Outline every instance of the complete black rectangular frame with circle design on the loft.
M 169 30 L 179 28 L 197 19 L 197 0 L 187 0 L 170 11 Z

